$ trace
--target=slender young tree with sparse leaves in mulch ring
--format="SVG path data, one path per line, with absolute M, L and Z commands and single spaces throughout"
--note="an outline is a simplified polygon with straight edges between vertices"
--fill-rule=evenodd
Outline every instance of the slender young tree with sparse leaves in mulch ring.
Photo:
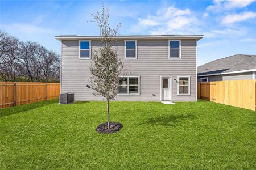
M 90 72 L 93 76 L 90 79 L 90 85 L 97 95 L 103 96 L 106 100 L 108 129 L 110 129 L 109 101 L 118 94 L 118 76 L 123 70 L 123 63 L 117 58 L 117 41 L 113 39 L 113 36 L 117 35 L 121 23 L 116 28 L 110 27 L 109 8 L 105 8 L 104 5 L 102 5 L 101 14 L 97 11 L 92 15 L 100 29 L 102 48 L 99 52 L 92 53 Z M 113 49 L 114 46 L 116 49 Z

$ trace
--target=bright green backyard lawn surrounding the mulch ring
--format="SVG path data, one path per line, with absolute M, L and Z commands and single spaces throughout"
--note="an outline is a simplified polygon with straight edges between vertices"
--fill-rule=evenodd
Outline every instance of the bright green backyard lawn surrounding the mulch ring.
M 0 109 L 1 169 L 255 169 L 256 112 L 199 101 L 57 100 Z

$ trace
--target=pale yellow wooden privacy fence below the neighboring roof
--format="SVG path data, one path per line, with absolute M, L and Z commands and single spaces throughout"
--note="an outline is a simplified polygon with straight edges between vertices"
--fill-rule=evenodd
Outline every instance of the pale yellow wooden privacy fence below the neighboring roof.
M 198 82 L 197 98 L 255 111 L 256 80 Z

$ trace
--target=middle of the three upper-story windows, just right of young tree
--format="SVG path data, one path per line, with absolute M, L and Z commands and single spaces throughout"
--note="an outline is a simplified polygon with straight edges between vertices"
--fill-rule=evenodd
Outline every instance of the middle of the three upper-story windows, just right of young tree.
M 125 58 L 137 59 L 137 41 L 135 40 L 125 41 Z

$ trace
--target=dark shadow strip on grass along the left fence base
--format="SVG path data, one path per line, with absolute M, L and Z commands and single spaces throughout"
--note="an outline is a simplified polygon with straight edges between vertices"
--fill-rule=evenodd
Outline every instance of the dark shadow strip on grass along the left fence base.
M 46 101 L 39 101 L 36 103 L 18 105 L 16 107 L 9 107 L 0 109 L 0 118 L 4 116 L 10 116 L 12 114 L 18 114 L 26 111 L 30 111 L 32 109 L 40 108 L 50 104 L 57 104 L 57 100 L 46 100 Z

